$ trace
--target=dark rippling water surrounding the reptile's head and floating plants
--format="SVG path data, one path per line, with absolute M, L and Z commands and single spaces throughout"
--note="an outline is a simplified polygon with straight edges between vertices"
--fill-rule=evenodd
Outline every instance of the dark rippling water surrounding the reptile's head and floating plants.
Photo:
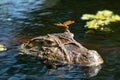
M 120 15 L 119 3 L 119 0 L 0 0 L 0 43 L 9 48 L 0 52 L 0 80 L 120 80 L 120 23 L 110 25 L 113 33 L 85 34 L 85 21 L 80 19 L 84 13 L 104 9 Z M 86 77 L 80 67 L 49 70 L 33 57 L 18 56 L 24 38 L 63 32 L 63 28 L 53 24 L 69 19 L 75 20 L 70 26 L 75 39 L 97 50 L 105 61 L 94 77 Z

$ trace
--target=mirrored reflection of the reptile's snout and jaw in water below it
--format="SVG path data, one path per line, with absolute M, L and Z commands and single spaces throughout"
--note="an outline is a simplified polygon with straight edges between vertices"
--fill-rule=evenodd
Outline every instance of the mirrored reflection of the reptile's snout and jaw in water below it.
M 67 65 L 65 67 L 57 68 L 56 70 L 53 69 L 50 75 L 56 75 L 58 77 L 63 77 L 63 78 L 80 79 L 85 77 L 96 76 L 100 71 L 100 69 L 101 69 L 101 65 L 91 66 L 91 67 L 85 67 L 85 66 L 79 66 L 79 65 Z

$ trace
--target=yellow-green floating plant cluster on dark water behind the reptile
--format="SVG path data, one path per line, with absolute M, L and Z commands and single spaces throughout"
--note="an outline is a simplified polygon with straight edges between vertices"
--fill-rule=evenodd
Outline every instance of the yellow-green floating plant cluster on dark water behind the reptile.
M 110 10 L 98 11 L 95 15 L 84 14 L 81 17 L 82 20 L 88 20 L 85 27 L 89 29 L 96 29 L 101 31 L 111 31 L 110 27 L 107 26 L 111 22 L 120 21 L 120 16 L 114 14 Z

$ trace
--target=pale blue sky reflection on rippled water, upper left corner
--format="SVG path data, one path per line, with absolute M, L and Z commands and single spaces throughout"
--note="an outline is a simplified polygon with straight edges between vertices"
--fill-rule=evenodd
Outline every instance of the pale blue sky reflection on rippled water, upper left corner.
M 32 23 L 34 20 L 28 13 L 33 11 L 41 11 L 43 9 L 54 6 L 59 0 L 1 0 L 0 1 L 0 41 L 2 44 L 10 45 L 14 44 L 15 36 L 18 35 L 21 30 L 26 30 L 25 25 L 30 24 L 35 26 L 42 26 L 40 23 Z M 52 4 L 51 4 L 52 3 Z M 43 12 L 41 15 L 47 15 L 49 12 Z M 35 25 L 34 25 L 35 24 Z M 26 32 L 26 31 L 24 31 Z M 29 31 L 28 31 L 29 32 Z M 27 32 L 25 33 L 27 34 Z

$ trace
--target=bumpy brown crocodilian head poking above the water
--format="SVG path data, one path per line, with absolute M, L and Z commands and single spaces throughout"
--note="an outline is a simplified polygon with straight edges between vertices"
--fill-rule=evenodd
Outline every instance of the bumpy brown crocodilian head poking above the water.
M 97 66 L 103 59 L 95 50 L 88 50 L 76 40 L 70 31 L 48 34 L 31 39 L 22 44 L 22 54 L 40 57 L 45 64 L 80 64 Z

